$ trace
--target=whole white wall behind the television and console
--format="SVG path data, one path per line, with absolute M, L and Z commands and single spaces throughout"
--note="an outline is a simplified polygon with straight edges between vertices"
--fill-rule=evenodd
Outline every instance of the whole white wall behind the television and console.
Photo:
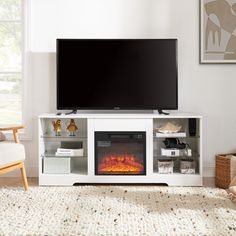
M 37 115 L 56 109 L 57 37 L 178 38 L 179 110 L 204 117 L 204 175 L 214 175 L 216 153 L 236 151 L 236 65 L 199 64 L 198 0 L 31 0 L 30 26 L 30 175 L 37 170 Z

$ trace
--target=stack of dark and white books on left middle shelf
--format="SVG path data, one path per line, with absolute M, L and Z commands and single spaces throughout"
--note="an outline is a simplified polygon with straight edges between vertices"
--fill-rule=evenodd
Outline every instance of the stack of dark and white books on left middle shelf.
M 83 143 L 80 141 L 62 141 L 61 147 L 57 148 L 56 156 L 78 156 L 84 155 Z

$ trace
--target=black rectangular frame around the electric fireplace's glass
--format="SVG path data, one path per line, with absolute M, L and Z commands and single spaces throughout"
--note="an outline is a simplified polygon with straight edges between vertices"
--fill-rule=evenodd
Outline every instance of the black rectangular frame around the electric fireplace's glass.
M 143 166 L 144 171 L 141 174 L 119 174 L 119 173 L 98 173 L 98 147 L 96 145 L 96 134 L 104 135 L 104 140 L 101 141 L 118 141 L 122 142 L 122 138 L 125 138 L 128 136 L 133 137 L 132 140 L 136 140 L 136 142 L 142 142 L 143 144 Z M 141 136 L 139 136 L 141 135 Z M 109 140 L 105 136 L 110 136 Z M 130 139 L 131 140 L 131 139 Z M 146 146 L 147 146 L 147 140 L 146 140 L 146 132 L 145 131 L 95 131 L 94 132 L 94 173 L 98 176 L 146 176 L 147 175 L 147 154 L 146 154 Z

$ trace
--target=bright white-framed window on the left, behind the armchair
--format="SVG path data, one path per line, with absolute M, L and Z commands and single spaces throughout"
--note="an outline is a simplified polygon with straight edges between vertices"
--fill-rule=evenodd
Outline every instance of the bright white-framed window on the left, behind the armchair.
M 23 0 L 0 0 L 0 125 L 22 123 Z

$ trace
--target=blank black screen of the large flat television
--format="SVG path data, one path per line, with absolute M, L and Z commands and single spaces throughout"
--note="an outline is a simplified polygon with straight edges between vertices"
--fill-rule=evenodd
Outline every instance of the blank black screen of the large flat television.
M 57 39 L 57 109 L 177 108 L 176 39 Z

